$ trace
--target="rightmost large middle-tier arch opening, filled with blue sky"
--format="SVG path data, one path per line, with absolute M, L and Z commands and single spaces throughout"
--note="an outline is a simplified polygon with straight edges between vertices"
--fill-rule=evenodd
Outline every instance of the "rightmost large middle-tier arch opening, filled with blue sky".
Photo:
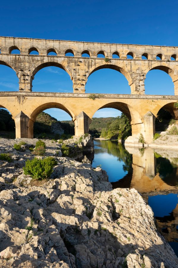
M 146 74 L 145 94 L 149 95 L 174 95 L 172 79 L 175 74 L 166 66 L 156 66 Z

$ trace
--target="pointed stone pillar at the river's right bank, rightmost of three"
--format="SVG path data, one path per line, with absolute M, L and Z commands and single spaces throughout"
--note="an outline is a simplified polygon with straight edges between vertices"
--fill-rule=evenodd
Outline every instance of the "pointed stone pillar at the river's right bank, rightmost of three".
M 150 111 L 144 115 L 144 140 L 146 143 L 152 143 L 155 134 L 155 116 Z

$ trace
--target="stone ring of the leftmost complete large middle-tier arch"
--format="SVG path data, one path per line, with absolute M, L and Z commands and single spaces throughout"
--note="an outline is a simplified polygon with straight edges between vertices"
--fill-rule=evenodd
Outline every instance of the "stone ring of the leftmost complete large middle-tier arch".
M 72 72 L 69 70 L 67 63 L 65 61 L 63 61 L 61 63 L 61 62 L 59 62 L 59 60 L 57 58 L 54 58 L 54 57 L 51 59 L 49 58 L 49 59 L 45 59 L 45 60 L 40 60 L 31 67 L 31 70 L 29 72 L 30 91 L 32 91 L 32 81 L 34 79 L 34 75 L 42 68 L 45 68 L 48 66 L 55 66 L 55 67 L 59 67 L 59 68 L 63 69 L 64 71 L 66 71 L 69 74 L 71 80 L 73 80 Z

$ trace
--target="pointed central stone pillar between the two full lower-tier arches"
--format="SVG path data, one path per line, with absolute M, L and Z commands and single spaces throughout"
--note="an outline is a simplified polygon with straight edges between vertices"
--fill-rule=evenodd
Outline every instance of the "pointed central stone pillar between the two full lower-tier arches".
M 75 123 L 75 136 L 80 136 L 82 134 L 89 132 L 89 125 L 91 123 L 90 117 L 83 111 L 76 116 Z

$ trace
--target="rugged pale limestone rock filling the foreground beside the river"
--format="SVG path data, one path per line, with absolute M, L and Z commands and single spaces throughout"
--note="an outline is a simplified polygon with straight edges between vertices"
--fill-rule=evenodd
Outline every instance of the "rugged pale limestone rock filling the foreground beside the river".
M 50 180 L 31 179 L 22 167 L 34 155 L 17 142 L 0 139 L 14 160 L 0 161 L 0 267 L 178 267 L 135 189 L 112 190 L 104 170 L 61 157 L 54 141 Z

